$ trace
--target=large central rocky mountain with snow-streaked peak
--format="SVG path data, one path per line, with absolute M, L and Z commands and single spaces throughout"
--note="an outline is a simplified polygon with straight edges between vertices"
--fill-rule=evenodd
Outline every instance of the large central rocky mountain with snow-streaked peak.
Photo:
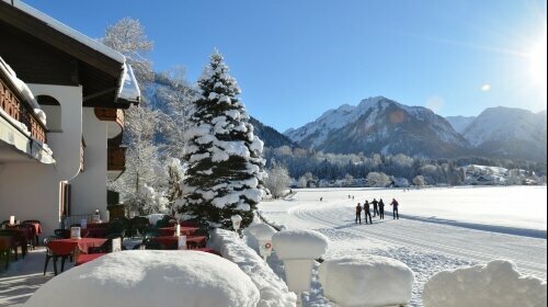
M 299 146 L 334 154 L 401 152 L 439 158 L 457 157 L 470 149 L 468 141 L 431 110 L 384 96 L 328 111 L 286 135 Z

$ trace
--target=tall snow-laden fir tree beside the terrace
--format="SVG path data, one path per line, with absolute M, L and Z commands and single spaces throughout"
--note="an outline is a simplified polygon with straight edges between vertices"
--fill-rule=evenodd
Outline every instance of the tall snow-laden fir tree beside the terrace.
M 240 89 L 218 52 L 212 54 L 198 87 L 185 134 L 189 169 L 179 212 L 227 229 L 230 217 L 239 214 L 246 227 L 263 195 L 263 141 L 254 135 L 237 98 Z

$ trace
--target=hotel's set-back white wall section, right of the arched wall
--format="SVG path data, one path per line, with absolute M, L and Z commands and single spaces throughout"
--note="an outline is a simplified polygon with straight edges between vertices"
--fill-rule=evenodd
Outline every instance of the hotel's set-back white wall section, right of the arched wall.
M 83 113 L 84 171 L 69 181 L 72 187 L 71 214 L 90 214 L 96 208 L 106 213 L 106 122 L 101 122 L 93 107 Z

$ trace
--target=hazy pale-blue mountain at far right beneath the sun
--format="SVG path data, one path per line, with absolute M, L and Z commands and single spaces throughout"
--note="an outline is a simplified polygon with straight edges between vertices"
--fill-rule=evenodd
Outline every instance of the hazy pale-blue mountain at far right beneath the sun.
M 463 132 L 482 155 L 546 161 L 546 111 L 490 107 Z

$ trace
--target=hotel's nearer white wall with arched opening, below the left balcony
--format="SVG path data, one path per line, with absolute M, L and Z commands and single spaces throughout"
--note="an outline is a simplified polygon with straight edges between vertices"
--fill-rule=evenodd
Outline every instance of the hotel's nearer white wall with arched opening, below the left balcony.
M 21 220 L 39 219 L 45 235 L 50 235 L 59 226 L 59 183 L 75 178 L 80 169 L 82 88 L 28 87 L 34 95 L 50 95 L 61 105 L 62 132 L 47 134 L 47 144 L 57 162 L 0 166 L 0 219 L 8 219 L 10 215 Z

